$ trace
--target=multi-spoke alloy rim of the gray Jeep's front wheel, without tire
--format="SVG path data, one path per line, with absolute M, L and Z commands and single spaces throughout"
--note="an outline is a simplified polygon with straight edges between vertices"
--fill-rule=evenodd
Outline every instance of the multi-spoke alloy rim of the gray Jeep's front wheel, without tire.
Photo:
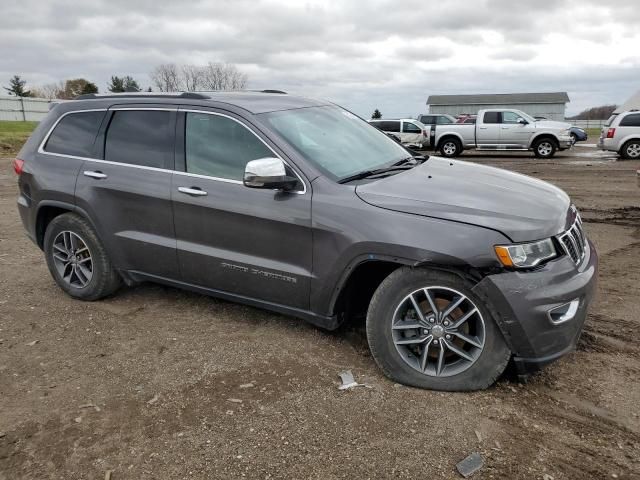
M 391 320 L 396 350 L 414 370 L 450 377 L 471 367 L 484 350 L 478 307 L 448 287 L 420 288 L 400 301 Z

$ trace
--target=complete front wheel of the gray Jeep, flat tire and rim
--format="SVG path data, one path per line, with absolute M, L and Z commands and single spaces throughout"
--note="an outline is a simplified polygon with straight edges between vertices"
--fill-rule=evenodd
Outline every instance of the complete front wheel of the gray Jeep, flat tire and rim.
M 471 285 L 436 270 L 403 267 L 391 273 L 369 305 L 367 338 L 385 375 L 433 390 L 487 388 L 511 357 Z

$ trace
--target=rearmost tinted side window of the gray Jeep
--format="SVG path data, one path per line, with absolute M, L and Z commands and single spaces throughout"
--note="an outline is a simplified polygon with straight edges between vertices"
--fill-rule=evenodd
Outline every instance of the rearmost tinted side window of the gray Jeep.
M 51 153 L 93 156 L 93 142 L 105 112 L 70 113 L 58 122 L 47 140 L 45 150 Z

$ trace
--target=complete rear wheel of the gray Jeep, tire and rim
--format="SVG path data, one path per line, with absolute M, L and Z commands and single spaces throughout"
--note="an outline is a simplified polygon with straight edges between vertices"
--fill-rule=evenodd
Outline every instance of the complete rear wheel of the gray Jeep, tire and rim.
M 53 279 L 74 298 L 97 300 L 120 286 L 120 276 L 95 231 L 74 213 L 65 213 L 49 223 L 44 253 Z

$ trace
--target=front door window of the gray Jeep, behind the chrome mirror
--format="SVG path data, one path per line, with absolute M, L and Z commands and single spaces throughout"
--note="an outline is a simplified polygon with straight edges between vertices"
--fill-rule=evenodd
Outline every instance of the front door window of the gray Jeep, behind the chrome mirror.
M 187 113 L 187 172 L 242 180 L 247 162 L 274 156 L 258 137 L 235 120 L 220 115 Z

